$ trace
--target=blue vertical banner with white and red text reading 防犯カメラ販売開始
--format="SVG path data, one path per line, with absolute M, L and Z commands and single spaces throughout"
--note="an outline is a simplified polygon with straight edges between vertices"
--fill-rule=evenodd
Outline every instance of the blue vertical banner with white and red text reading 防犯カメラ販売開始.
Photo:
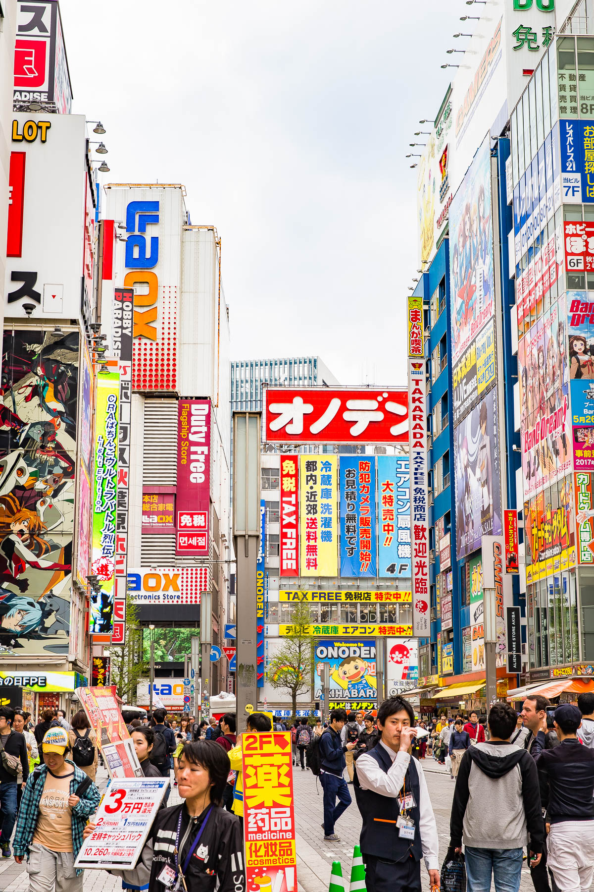
M 375 458 L 340 456 L 340 575 L 376 576 Z

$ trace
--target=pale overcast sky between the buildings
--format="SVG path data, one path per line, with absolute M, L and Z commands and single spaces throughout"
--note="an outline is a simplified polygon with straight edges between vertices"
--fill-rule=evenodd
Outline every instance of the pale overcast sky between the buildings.
M 464 0 L 61 0 L 105 182 L 183 183 L 222 238 L 232 358 L 404 384 L 417 170 Z M 468 24 L 470 24 L 468 22 Z

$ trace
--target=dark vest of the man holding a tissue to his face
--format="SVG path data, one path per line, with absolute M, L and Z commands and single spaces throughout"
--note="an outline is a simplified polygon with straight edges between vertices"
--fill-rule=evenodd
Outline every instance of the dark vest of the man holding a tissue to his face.
M 365 756 L 370 756 L 378 763 L 383 772 L 392 767 L 392 760 L 384 747 L 379 744 Z M 420 842 L 420 784 L 419 773 L 414 759 L 406 770 L 404 784 L 406 792 L 411 792 L 416 805 L 407 814 L 415 822 L 415 838 L 403 839 L 398 836 L 396 820 L 400 814 L 400 805 L 395 797 L 383 796 L 370 789 L 361 789 L 357 777 L 357 766 L 354 765 L 354 797 L 363 819 L 361 830 L 361 851 L 363 855 L 374 855 L 385 861 L 404 861 L 411 855 L 420 861 L 423 850 Z

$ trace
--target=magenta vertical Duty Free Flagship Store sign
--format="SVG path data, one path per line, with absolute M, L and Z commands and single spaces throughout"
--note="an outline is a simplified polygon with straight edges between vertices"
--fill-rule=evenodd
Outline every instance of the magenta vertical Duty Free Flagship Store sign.
M 180 400 L 177 415 L 175 553 L 208 554 L 210 400 Z

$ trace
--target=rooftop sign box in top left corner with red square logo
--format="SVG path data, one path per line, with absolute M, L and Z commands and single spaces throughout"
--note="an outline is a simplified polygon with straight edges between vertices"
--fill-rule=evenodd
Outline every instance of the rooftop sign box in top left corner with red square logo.
M 69 114 L 72 106 L 60 6 L 55 0 L 17 4 L 14 108 L 31 102 L 44 103 L 45 111 L 61 114 Z

